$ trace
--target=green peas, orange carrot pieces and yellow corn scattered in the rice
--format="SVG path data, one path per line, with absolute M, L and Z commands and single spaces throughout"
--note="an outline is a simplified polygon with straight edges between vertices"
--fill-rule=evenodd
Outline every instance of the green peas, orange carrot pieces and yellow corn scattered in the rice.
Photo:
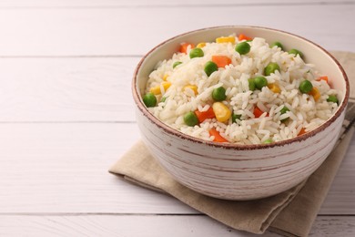
M 253 38 L 240 34 L 238 38 L 236 36 L 218 37 L 216 38 L 215 43 L 212 42 L 209 44 L 225 44 L 228 46 L 234 46 L 234 50 L 238 53 L 240 57 L 243 56 L 248 57 L 250 48 L 252 46 L 252 41 Z M 207 44 L 208 43 L 201 42 L 197 46 L 194 46 L 194 44 L 191 43 L 182 43 L 180 45 L 180 49 L 179 52 L 177 52 L 177 54 L 188 55 L 190 60 L 193 60 L 198 57 L 204 57 L 205 56 L 204 48 L 207 46 Z M 272 42 L 269 45 L 269 47 L 279 48 L 278 50 L 281 52 L 283 52 L 282 50 L 284 49 L 284 46 L 282 46 L 280 42 Z M 303 52 L 300 52 L 298 49 L 295 48 L 290 49 L 288 53 L 289 55 L 291 55 L 291 57 L 298 58 L 298 60 L 302 60 L 301 58 L 304 57 Z M 172 64 L 172 69 L 176 70 L 178 67 L 181 67 L 183 65 L 184 63 L 182 61 L 175 61 Z M 229 55 L 216 54 L 216 55 L 212 55 L 212 57 L 210 57 L 210 59 L 204 64 L 203 71 L 206 74 L 206 77 L 212 77 L 215 72 L 222 71 L 224 69 L 227 69 L 228 67 L 234 67 L 233 58 L 230 57 Z M 281 65 L 279 65 L 277 62 L 269 62 L 269 64 L 263 68 L 262 75 L 258 75 L 257 73 L 255 77 L 248 78 L 248 87 L 250 91 L 249 95 L 252 95 L 253 93 L 258 94 L 264 90 L 268 90 L 270 91 L 270 93 L 273 94 L 283 93 L 282 87 L 279 85 L 277 81 L 269 82 L 270 80 L 268 80 L 269 76 L 272 76 L 274 74 L 280 74 L 280 73 L 281 73 Z M 315 81 L 323 81 L 322 83 L 327 84 L 331 88 L 327 76 L 317 77 Z M 305 94 L 307 96 L 306 97 L 307 100 L 312 100 L 315 103 L 317 103 L 317 101 L 320 99 L 322 95 L 320 94 L 320 89 L 314 86 L 314 84 L 315 83 L 312 83 L 311 80 L 307 78 L 302 78 L 299 83 L 298 93 L 297 91 L 295 93 L 299 94 L 299 96 Z M 164 77 L 161 78 L 161 82 L 157 86 L 147 88 L 147 94 L 145 94 L 143 97 L 143 102 L 147 106 L 147 108 L 157 107 L 158 104 L 164 107 L 164 103 L 166 103 L 167 100 L 169 99 L 164 95 L 167 93 L 171 85 L 172 82 L 169 81 L 169 76 L 164 75 Z M 322 85 L 322 84 L 317 84 L 317 85 Z M 188 95 L 190 97 L 197 97 L 198 91 L 201 91 L 198 90 L 198 85 L 196 84 L 186 85 L 182 89 L 187 90 Z M 188 111 L 183 115 L 183 122 L 185 123 L 185 126 L 198 127 L 206 120 L 212 122 L 217 121 L 218 123 L 222 123 L 225 125 L 230 125 L 233 123 L 240 125 L 242 120 L 269 117 L 270 107 L 265 105 L 265 103 L 261 103 L 265 106 L 261 106 L 260 108 L 258 106 L 260 105 L 259 103 L 255 104 L 252 109 L 253 111 L 252 114 L 248 114 L 248 113 L 245 114 L 245 113 L 241 113 L 240 110 L 234 110 L 233 106 L 231 105 L 232 100 L 228 98 L 227 90 L 229 91 L 230 88 L 225 86 L 219 86 L 213 88 L 207 100 L 208 101 L 207 109 L 206 109 L 206 105 L 204 105 L 204 109 L 197 108 Z M 328 95 L 326 98 L 326 103 L 330 104 L 330 108 L 336 107 L 339 103 L 337 93 Z M 335 104 L 335 106 L 332 104 Z M 292 119 L 289 118 L 289 114 L 293 110 L 295 109 L 291 108 L 289 104 L 285 104 L 279 109 L 278 112 L 273 111 L 272 116 L 277 115 L 277 119 L 274 122 L 277 122 L 279 124 L 290 123 L 291 122 L 290 120 L 295 119 L 295 118 Z M 208 130 L 208 136 L 210 137 L 211 140 L 216 142 L 228 142 L 229 141 L 228 136 L 223 136 L 223 134 L 221 134 L 221 132 L 224 133 L 225 130 L 226 129 L 219 129 L 216 128 L 216 126 L 213 126 Z M 297 135 L 300 136 L 306 133 L 307 131 L 308 131 L 307 128 L 300 126 Z M 260 136 L 260 138 L 261 138 L 260 143 L 264 143 L 264 144 L 269 144 L 277 141 L 274 140 L 272 136 L 269 137 Z

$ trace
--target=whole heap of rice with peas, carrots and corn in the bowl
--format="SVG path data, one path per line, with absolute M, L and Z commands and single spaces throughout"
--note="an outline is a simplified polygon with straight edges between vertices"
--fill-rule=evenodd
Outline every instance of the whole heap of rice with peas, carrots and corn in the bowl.
M 261 37 L 182 43 L 151 72 L 143 101 L 168 126 L 199 139 L 260 144 L 295 138 L 329 119 L 339 97 L 302 57 Z

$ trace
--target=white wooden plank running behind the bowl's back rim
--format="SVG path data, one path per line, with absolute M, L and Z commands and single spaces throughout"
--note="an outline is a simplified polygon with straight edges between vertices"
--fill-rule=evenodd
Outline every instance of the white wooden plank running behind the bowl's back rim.
M 216 11 L 223 14 L 211 17 Z M 129 11 L 125 7 L 3 8 L 0 55 L 142 55 L 177 34 L 236 24 L 279 28 L 305 36 L 329 50 L 355 52 L 355 32 L 349 30 L 355 22 L 354 11 L 355 5 L 278 5 L 277 10 L 275 5 L 182 6 L 178 12 L 184 17 L 177 20 L 171 17 L 177 13 L 175 7 L 132 7 Z M 190 19 L 197 15 L 198 21 L 192 24 Z

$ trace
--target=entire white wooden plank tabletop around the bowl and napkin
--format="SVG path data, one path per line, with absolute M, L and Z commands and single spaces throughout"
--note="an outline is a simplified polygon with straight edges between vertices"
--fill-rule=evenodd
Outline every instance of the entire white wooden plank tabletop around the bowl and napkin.
M 107 172 L 139 139 L 134 68 L 205 26 L 355 52 L 354 22 L 354 0 L 0 1 L 0 236 L 254 236 Z M 312 235 L 355 236 L 354 178 L 355 138 Z

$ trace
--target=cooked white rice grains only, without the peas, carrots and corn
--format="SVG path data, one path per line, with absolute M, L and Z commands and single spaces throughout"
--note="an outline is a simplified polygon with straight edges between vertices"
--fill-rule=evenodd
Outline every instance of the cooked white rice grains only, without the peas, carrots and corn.
M 338 108 L 337 103 L 327 102 L 327 98 L 339 92 L 331 89 L 326 81 L 316 80 L 321 75 L 301 57 L 284 52 L 277 46 L 270 48 L 266 40 L 260 37 L 249 42 L 251 48 L 247 55 L 239 55 L 235 50 L 236 44 L 238 37 L 235 44 L 207 43 L 202 48 L 204 57 L 190 58 L 188 54 L 176 53 L 171 59 L 159 62 L 149 75 L 147 92 L 161 85 L 164 77 L 171 82 L 171 86 L 166 91 L 160 86 L 162 93 L 156 96 L 157 106 L 148 108 L 149 111 L 168 126 L 200 139 L 213 140 L 208 131 L 215 128 L 231 143 L 259 144 L 268 139 L 275 142 L 295 138 L 302 128 L 306 131 L 315 129 Z M 227 56 L 232 64 L 218 68 L 208 77 L 204 66 L 213 55 Z M 177 61 L 182 64 L 173 69 Z M 275 71 L 266 78 L 269 84 L 278 84 L 281 91 L 274 93 L 268 87 L 249 90 L 248 79 L 263 76 L 264 68 L 270 62 L 276 62 L 280 72 Z M 317 101 L 299 91 L 299 83 L 304 79 L 320 90 L 321 96 Z M 195 95 L 191 88 L 184 88 L 188 85 L 197 86 L 198 94 Z M 184 115 L 196 109 L 208 110 L 214 102 L 212 91 L 219 87 L 226 88 L 227 98 L 223 103 L 233 113 L 241 115 L 241 119 L 232 123 L 232 118 L 229 118 L 228 122 L 222 123 L 216 118 L 208 118 L 194 127 L 186 125 Z M 167 98 L 165 102 L 161 102 L 163 97 Z M 267 113 L 255 118 L 253 110 L 256 106 Z M 280 110 L 284 106 L 289 111 L 281 114 Z M 289 118 L 287 122 L 281 122 L 285 118 Z

